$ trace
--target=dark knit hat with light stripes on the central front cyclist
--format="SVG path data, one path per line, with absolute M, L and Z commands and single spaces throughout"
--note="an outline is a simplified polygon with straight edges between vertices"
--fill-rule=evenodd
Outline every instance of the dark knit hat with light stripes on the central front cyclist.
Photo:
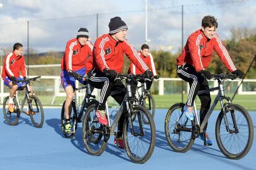
M 108 27 L 109 34 L 115 34 L 123 29 L 128 30 L 128 26 L 120 17 L 111 18 Z

